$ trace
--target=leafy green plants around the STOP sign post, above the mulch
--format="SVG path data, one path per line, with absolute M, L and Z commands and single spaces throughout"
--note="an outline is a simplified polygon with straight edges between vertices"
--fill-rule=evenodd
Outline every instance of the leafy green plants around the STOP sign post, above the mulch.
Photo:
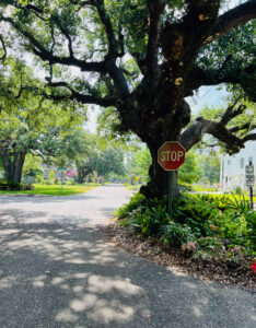
M 141 237 L 154 236 L 202 259 L 246 262 L 256 251 L 256 213 L 241 206 L 241 200 L 184 195 L 174 200 L 170 218 L 165 197 L 146 200 L 137 194 L 117 214 L 125 218 L 124 226 Z

